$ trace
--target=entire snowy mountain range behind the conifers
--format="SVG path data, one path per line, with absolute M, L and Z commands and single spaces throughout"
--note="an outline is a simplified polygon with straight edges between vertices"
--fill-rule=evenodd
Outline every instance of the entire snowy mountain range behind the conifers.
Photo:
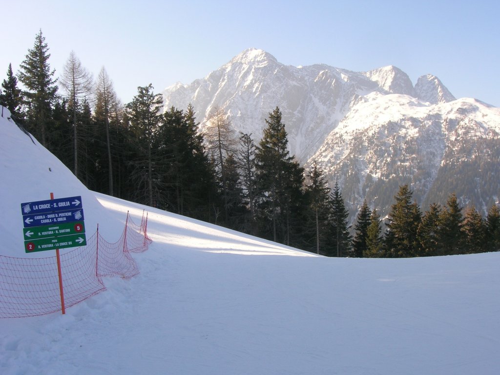
M 365 197 L 387 213 L 404 183 L 423 210 L 430 202 L 445 203 L 452 192 L 483 214 L 498 201 L 500 111 L 475 99 L 456 100 L 431 74 L 413 86 L 395 66 L 367 72 L 294 67 L 247 49 L 204 79 L 168 87 L 163 96 L 165 108 L 192 103 L 201 127 L 219 105 L 238 131 L 256 141 L 264 119 L 279 106 L 290 153 L 306 166 L 321 161 L 329 180 L 339 181 L 351 219 Z

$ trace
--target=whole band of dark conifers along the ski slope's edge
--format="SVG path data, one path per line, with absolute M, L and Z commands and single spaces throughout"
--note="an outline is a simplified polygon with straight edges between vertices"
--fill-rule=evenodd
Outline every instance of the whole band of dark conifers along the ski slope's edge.
M 56 77 L 49 57 L 40 30 L 18 73 L 8 66 L 0 103 L 91 190 L 327 256 L 500 249 L 498 206 L 482 217 L 452 193 L 422 213 L 402 185 L 383 220 L 366 202 L 349 220 L 338 184 L 330 189 L 315 163 L 305 171 L 289 155 L 278 106 L 255 144 L 219 107 L 201 131 L 195 108 L 164 111 L 151 84 L 123 105 L 104 68 L 94 80 L 71 52 Z

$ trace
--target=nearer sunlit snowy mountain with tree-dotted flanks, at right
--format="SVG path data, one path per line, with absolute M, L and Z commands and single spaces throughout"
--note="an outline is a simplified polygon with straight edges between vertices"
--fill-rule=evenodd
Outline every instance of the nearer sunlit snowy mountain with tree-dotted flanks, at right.
M 497 201 L 500 108 L 474 99 L 431 106 L 407 95 L 370 99 L 353 106 L 311 157 L 343 186 L 352 213 L 364 198 L 387 213 L 403 183 L 424 209 L 451 192 L 484 214 Z M 479 159 L 482 170 L 470 170 Z M 453 173 L 445 174 L 449 164 Z M 477 179 L 481 193 L 470 185 Z

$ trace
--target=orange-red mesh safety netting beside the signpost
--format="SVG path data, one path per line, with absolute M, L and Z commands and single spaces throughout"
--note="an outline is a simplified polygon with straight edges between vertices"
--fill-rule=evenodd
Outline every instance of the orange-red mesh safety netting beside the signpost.
M 145 251 L 147 215 L 140 225 L 127 213 L 121 237 L 104 240 L 99 230 L 85 246 L 60 255 L 64 305 L 70 307 L 105 289 L 103 276 L 130 278 L 139 270 L 130 252 Z M 48 314 L 61 310 L 57 258 L 16 258 L 0 255 L 0 318 Z

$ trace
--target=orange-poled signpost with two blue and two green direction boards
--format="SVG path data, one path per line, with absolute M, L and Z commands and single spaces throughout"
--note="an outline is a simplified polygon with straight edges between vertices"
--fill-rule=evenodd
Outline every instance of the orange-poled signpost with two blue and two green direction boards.
M 59 248 L 86 245 L 85 224 L 81 196 L 70 196 L 21 203 L 24 251 L 35 252 L 55 249 L 57 273 L 64 314 L 64 292 L 59 258 Z

